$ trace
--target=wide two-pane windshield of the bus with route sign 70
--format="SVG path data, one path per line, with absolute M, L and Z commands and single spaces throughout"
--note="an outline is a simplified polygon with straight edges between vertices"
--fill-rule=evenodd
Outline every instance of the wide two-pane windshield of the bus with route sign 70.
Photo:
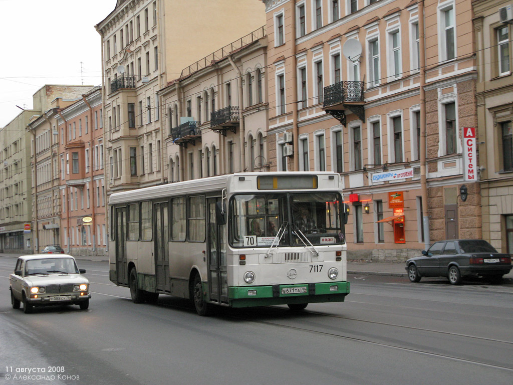
M 236 195 L 230 201 L 230 244 L 265 247 L 280 227 L 280 246 L 342 244 L 342 199 L 334 192 L 316 194 Z M 303 239 L 303 240 L 302 240 Z

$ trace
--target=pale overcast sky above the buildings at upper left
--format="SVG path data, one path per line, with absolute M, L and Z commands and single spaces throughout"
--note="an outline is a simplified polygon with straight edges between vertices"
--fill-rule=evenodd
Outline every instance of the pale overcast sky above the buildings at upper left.
M 0 127 L 21 112 L 16 105 L 31 109 L 32 95 L 45 84 L 101 85 L 101 40 L 94 26 L 115 4 L 0 0 Z

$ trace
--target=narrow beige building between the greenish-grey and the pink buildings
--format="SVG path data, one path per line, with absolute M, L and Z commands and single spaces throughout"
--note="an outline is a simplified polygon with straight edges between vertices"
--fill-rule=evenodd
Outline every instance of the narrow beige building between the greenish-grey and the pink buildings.
M 61 199 L 59 172 L 59 135 L 57 117 L 60 109 L 82 99 L 92 86 L 44 86 L 49 103 L 28 124 L 31 137 L 32 231 L 33 250 L 61 243 Z

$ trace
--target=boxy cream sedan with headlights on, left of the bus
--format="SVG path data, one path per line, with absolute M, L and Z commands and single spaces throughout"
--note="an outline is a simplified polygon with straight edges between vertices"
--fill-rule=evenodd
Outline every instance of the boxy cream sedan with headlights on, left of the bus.
M 86 310 L 91 294 L 85 272 L 67 254 L 21 256 L 9 276 L 12 307 L 19 309 L 23 302 L 25 313 L 47 305 L 79 305 Z

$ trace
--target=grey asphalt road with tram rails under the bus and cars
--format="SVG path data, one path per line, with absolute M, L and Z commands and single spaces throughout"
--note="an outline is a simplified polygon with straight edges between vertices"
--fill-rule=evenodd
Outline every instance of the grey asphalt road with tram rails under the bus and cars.
M 79 261 L 89 310 L 24 314 L 10 303 L 14 263 L 0 257 L 0 383 L 513 383 L 511 285 L 353 275 L 346 302 L 206 318 L 168 296 L 134 304 L 106 262 Z

